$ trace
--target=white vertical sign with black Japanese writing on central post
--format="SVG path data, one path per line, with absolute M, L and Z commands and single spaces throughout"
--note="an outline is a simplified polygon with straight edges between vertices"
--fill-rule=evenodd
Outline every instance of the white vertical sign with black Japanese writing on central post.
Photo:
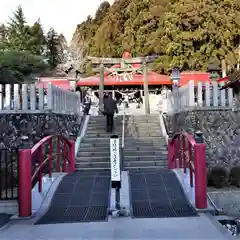
M 119 138 L 110 138 L 111 180 L 120 181 Z

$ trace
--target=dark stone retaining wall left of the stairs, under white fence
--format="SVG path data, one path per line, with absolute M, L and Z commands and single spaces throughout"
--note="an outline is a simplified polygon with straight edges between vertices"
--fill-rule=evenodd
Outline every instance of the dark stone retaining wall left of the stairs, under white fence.
M 21 146 L 23 136 L 28 136 L 31 146 L 48 135 L 74 139 L 79 133 L 80 123 L 81 117 L 65 114 L 0 114 L 0 148 Z

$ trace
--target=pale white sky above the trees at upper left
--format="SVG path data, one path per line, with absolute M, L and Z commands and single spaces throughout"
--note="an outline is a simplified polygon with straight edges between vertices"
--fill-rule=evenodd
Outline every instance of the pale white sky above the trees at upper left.
M 70 42 L 77 24 L 94 15 L 104 0 L 0 0 L 0 23 L 21 5 L 28 24 L 40 18 L 44 31 L 53 27 Z

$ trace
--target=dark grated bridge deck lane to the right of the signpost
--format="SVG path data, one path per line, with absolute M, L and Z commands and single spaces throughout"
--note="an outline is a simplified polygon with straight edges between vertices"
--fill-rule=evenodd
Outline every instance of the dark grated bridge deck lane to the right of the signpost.
M 198 216 L 174 172 L 131 170 L 129 176 L 133 218 Z

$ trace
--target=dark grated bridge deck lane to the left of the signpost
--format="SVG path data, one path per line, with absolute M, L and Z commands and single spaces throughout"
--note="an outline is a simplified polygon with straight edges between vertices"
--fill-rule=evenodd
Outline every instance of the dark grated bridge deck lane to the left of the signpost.
M 107 221 L 110 171 L 79 171 L 59 184 L 48 212 L 36 224 Z

